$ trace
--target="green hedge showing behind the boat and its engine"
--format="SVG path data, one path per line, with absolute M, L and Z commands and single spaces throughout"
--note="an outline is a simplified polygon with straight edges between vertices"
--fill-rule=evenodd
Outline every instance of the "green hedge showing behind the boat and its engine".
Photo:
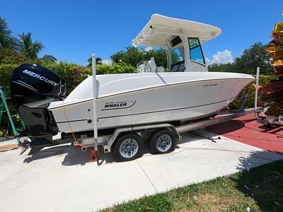
M 52 61 L 37 61 L 37 64 L 45 66 L 47 69 L 50 69 L 60 76 L 62 76 L 67 82 L 67 95 L 76 88 L 76 86 L 81 83 L 88 75 L 91 75 L 91 68 L 85 66 L 79 66 L 78 64 L 69 64 L 67 62 L 52 62 Z M 0 86 L 10 86 L 11 74 L 13 73 L 13 69 L 15 69 L 19 64 L 0 64 Z M 120 63 L 120 64 L 98 64 L 96 67 L 97 74 L 110 74 L 110 73 L 133 73 L 135 68 L 131 65 Z M 275 76 L 260 76 L 260 85 L 265 85 L 270 81 L 270 79 L 275 78 Z M 243 89 L 242 93 L 248 93 L 248 99 L 246 101 L 245 107 L 253 107 L 254 106 L 254 98 L 255 98 L 255 88 L 250 83 L 250 85 L 246 86 Z M 225 109 L 238 109 L 241 104 L 240 96 L 236 98 L 229 106 Z M 6 126 L 8 125 L 8 120 L 6 119 L 6 115 L 4 115 L 5 119 L 1 122 L 0 126 L 0 137 L 6 136 Z M 5 129 L 5 130 L 4 130 Z

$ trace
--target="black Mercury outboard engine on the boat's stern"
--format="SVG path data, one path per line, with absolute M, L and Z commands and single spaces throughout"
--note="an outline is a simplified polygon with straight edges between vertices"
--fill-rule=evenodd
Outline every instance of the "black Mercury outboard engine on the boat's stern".
M 22 64 L 11 77 L 11 98 L 26 129 L 20 136 L 32 141 L 52 141 L 58 128 L 47 107 L 50 102 L 63 100 L 66 92 L 64 79 L 37 64 Z

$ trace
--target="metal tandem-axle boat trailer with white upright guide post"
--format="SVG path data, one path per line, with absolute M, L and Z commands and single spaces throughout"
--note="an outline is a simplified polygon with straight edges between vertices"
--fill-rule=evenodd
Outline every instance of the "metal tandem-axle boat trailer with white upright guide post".
M 93 88 L 96 88 L 96 54 L 92 54 L 91 57 L 93 64 Z M 133 142 L 133 135 L 137 135 L 142 139 L 151 138 L 149 143 L 151 153 L 167 153 L 173 151 L 175 148 L 175 140 L 180 141 L 182 139 L 180 134 L 184 132 L 193 131 L 195 129 L 204 129 L 207 126 L 228 122 L 231 119 L 254 112 L 253 109 L 244 110 L 244 104 L 246 102 L 247 95 L 243 95 L 241 97 L 241 106 L 236 111 L 222 111 L 213 117 L 199 119 L 195 122 L 186 122 L 185 124 L 180 124 L 180 126 L 174 126 L 173 124 L 169 123 L 127 126 L 115 129 L 112 134 L 98 136 L 96 114 L 97 95 L 98 93 L 96 90 L 93 90 L 93 136 L 81 134 L 79 138 L 76 138 L 76 136 L 73 135 L 75 140 L 74 146 L 76 146 L 76 148 L 81 149 L 81 151 L 87 151 L 88 148 L 91 148 L 90 161 L 98 160 L 98 146 L 102 146 L 105 153 L 113 152 L 117 160 L 132 160 L 133 158 L 130 157 L 130 155 L 134 153 L 134 148 L 137 146 L 139 148 L 142 147 L 141 143 L 136 141 Z M 152 141 L 156 135 L 158 135 L 158 138 L 155 139 L 155 141 Z M 125 140 L 120 141 L 121 137 L 124 137 Z M 163 138 L 163 140 L 161 138 Z M 135 139 L 137 140 L 137 138 Z M 217 139 L 220 139 L 220 137 Z M 115 145 L 115 143 L 120 143 L 120 146 Z M 129 157 L 127 157 L 128 155 Z

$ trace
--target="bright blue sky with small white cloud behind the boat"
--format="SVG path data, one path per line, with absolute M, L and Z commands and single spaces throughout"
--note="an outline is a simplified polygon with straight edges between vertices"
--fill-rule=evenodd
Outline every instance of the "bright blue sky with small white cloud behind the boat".
M 132 45 L 151 14 L 161 13 L 221 28 L 221 35 L 204 45 L 204 53 L 210 61 L 229 61 L 255 42 L 270 41 L 273 25 L 283 21 L 282 5 L 282 0 L 2 0 L 0 16 L 14 35 L 30 32 L 33 40 L 42 42 L 40 56 L 52 54 L 61 61 L 86 64 L 92 52 L 109 59 Z

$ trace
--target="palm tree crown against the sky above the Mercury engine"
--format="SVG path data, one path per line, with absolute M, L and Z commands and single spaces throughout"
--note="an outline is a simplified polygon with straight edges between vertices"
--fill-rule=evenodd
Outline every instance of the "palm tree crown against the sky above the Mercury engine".
M 18 51 L 23 54 L 25 58 L 35 59 L 37 58 L 38 52 L 44 48 L 41 42 L 33 42 L 31 39 L 31 33 L 18 35 Z

